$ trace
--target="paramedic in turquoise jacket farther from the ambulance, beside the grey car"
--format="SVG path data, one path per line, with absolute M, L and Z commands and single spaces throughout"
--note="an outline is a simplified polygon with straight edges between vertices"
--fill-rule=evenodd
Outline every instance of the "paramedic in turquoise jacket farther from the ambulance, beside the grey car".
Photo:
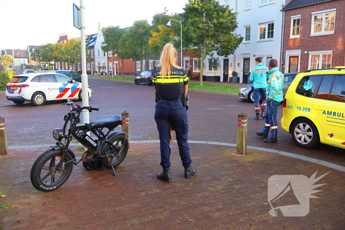
M 260 116 L 260 95 L 262 99 L 261 104 L 261 117 L 265 118 L 266 113 L 266 87 L 267 87 L 267 73 L 268 68 L 264 65 L 262 65 L 262 58 L 257 57 L 255 58 L 255 67 L 250 73 L 249 79 L 253 81 L 253 87 L 254 87 L 254 109 L 255 109 L 255 119 L 259 120 Z

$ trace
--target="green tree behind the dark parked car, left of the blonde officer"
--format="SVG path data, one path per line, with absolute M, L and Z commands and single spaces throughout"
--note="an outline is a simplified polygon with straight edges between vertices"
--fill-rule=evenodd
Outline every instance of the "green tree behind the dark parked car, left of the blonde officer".
M 141 20 L 134 22 L 133 26 L 128 30 L 128 33 L 123 34 L 124 40 L 126 41 L 125 49 L 131 54 L 133 60 L 141 62 L 141 71 L 143 70 L 142 60 L 149 54 L 149 29 L 150 26 L 147 21 Z

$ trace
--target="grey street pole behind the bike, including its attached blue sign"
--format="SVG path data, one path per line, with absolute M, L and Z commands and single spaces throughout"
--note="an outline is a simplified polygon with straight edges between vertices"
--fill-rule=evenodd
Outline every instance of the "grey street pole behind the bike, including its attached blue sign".
M 78 17 L 78 14 L 80 17 Z M 80 23 L 80 24 L 79 24 Z M 73 26 L 80 30 L 81 41 L 81 90 L 83 93 L 83 106 L 89 106 L 88 78 L 86 73 L 86 44 L 85 44 L 85 6 L 84 0 L 80 0 L 80 7 L 73 3 Z M 89 123 L 89 111 L 83 110 L 83 123 Z

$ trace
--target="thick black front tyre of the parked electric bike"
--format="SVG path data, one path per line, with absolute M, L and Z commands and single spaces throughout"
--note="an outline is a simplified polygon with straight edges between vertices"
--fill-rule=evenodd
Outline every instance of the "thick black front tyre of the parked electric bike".
M 46 166 L 46 168 L 49 168 L 49 164 L 55 164 L 55 159 L 59 159 L 56 157 L 61 157 L 62 156 L 62 150 L 55 150 L 55 149 L 49 149 L 42 153 L 35 161 L 34 165 L 31 168 L 30 172 L 30 180 L 35 189 L 42 191 L 42 192 L 50 192 L 53 190 L 58 189 L 60 186 L 62 186 L 69 178 L 69 175 L 72 172 L 73 169 L 73 157 L 69 152 L 66 153 L 66 158 L 65 158 L 65 163 L 68 162 L 67 164 L 63 164 L 63 168 L 65 170 L 65 174 L 59 173 L 57 177 L 55 178 L 55 183 L 52 185 L 46 184 L 45 182 L 42 181 L 42 177 L 44 177 L 45 174 L 42 174 L 44 172 L 47 172 L 50 174 L 51 169 L 49 170 L 44 170 L 42 171 L 43 167 Z M 54 159 L 54 160 L 53 160 Z M 50 161 L 50 163 L 49 163 Z M 56 165 L 56 164 L 55 164 Z M 55 166 L 54 165 L 54 166 Z M 47 178 L 52 179 L 52 177 L 49 175 Z M 46 179 L 46 178 L 45 178 Z

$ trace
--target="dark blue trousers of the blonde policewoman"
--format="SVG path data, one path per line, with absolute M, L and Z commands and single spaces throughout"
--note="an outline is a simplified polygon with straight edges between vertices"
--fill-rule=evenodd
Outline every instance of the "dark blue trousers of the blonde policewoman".
M 156 103 L 155 121 L 159 132 L 161 147 L 161 165 L 170 168 L 170 126 L 173 125 L 176 132 L 176 141 L 179 149 L 182 165 L 188 166 L 192 160 L 189 155 L 188 145 L 188 115 L 186 107 L 180 100 L 160 99 Z

